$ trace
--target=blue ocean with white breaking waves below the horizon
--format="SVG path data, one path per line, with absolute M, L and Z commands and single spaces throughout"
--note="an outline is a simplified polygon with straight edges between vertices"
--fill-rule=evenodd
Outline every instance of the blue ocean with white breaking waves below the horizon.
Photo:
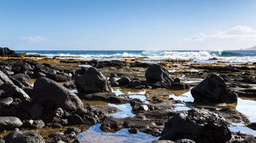
M 75 58 L 81 60 L 121 60 L 124 58 L 148 57 L 148 59 L 192 59 L 194 62 L 209 63 L 210 58 L 228 63 L 256 62 L 254 50 L 18 50 L 17 53 L 41 54 L 49 58 Z

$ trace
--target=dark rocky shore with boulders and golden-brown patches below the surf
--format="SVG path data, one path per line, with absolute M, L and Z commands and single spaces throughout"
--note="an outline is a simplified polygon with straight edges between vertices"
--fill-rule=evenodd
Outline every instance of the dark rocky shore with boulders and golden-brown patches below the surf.
M 256 128 L 236 110 L 239 98 L 256 99 L 255 63 L 82 61 L 9 48 L 0 48 L 0 59 L 0 142 L 80 142 L 77 136 L 97 123 L 105 132 L 158 136 L 159 143 L 256 142 L 230 130 L 234 123 Z M 145 100 L 128 92 L 138 90 Z M 170 97 L 187 92 L 193 101 Z M 120 109 L 109 104 L 129 104 L 134 116 L 113 117 Z

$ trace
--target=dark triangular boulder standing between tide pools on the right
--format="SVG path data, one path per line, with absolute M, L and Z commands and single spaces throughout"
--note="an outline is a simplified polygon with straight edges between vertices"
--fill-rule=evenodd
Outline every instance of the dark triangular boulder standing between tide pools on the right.
M 219 74 L 211 74 L 195 88 L 192 88 L 191 94 L 195 101 L 215 103 L 233 103 L 237 101 L 237 94 L 227 87 Z

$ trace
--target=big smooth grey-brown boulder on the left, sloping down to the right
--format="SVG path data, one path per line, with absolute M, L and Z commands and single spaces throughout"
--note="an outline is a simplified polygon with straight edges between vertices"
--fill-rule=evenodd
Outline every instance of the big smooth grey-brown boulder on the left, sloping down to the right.
M 67 111 L 83 108 L 83 102 L 75 93 L 47 77 L 40 77 L 34 82 L 32 102 L 42 106 L 51 104 L 53 107 L 61 107 Z

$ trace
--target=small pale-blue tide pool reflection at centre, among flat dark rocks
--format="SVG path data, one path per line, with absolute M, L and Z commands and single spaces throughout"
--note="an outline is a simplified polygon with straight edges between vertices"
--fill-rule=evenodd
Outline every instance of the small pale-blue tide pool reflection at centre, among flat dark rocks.
M 124 117 L 134 117 L 132 113 L 132 107 L 130 104 L 108 104 L 110 107 L 116 107 L 120 111 L 110 114 L 113 117 L 124 118 Z

